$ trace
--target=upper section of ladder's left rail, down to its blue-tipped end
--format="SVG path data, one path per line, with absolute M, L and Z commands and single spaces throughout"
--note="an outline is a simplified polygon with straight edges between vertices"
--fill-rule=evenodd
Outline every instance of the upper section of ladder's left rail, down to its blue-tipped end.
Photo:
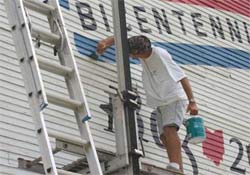
M 14 40 L 14 44 L 17 51 L 17 57 L 20 62 L 21 70 L 23 70 L 22 74 L 27 70 L 33 76 L 32 79 L 34 80 L 34 83 L 31 83 L 24 78 L 24 84 L 27 85 L 25 86 L 25 88 L 27 89 L 27 93 L 31 93 L 33 91 L 39 92 L 39 105 L 47 105 L 48 100 L 46 97 L 44 85 L 42 83 L 41 72 L 38 69 L 38 61 L 35 54 L 35 49 L 32 45 L 31 32 L 30 30 L 28 30 L 28 21 L 27 18 L 22 15 L 25 14 L 22 0 L 16 1 L 16 3 L 19 4 L 19 7 L 15 4 L 13 0 L 4 0 L 4 2 L 6 8 L 15 8 L 13 13 L 10 14 L 10 10 L 7 10 L 7 13 L 12 30 L 12 35 L 18 40 Z M 19 19 L 20 22 L 15 23 L 16 19 Z M 22 45 L 20 43 L 25 43 L 25 45 Z M 38 71 L 36 73 L 33 73 L 34 70 Z

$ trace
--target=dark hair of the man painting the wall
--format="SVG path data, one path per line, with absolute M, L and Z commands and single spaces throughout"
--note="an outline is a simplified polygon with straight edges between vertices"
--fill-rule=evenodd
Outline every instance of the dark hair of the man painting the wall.
M 128 46 L 130 54 L 141 54 L 151 49 L 151 42 L 146 36 L 133 36 L 128 39 Z

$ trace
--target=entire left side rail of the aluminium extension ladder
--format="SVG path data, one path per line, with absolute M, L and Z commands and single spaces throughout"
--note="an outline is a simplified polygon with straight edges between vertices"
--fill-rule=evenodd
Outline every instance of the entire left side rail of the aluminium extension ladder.
M 51 144 L 49 142 L 44 117 L 41 112 L 41 104 L 46 104 L 47 98 L 45 95 L 43 83 L 41 82 L 40 71 L 37 71 L 36 74 L 34 74 L 33 71 L 34 69 L 39 69 L 35 56 L 35 50 L 31 45 L 32 39 L 31 33 L 28 30 L 28 21 L 24 16 L 24 6 L 21 0 L 5 0 L 4 2 L 6 11 L 8 13 L 9 22 L 12 26 L 11 29 L 13 37 L 17 38 L 16 40 L 14 39 L 14 44 L 16 46 L 17 56 L 20 61 L 21 72 L 23 74 L 26 92 L 29 97 L 29 104 L 30 106 L 34 106 L 33 108 L 31 108 L 31 113 L 33 116 L 33 121 L 35 123 L 35 130 L 38 137 L 42 159 L 45 162 L 44 169 L 48 173 L 57 175 Z M 14 10 L 11 12 L 11 9 L 13 8 Z M 16 19 L 19 19 L 19 22 L 16 23 Z M 20 43 L 25 43 L 28 45 L 22 45 Z M 39 98 L 36 98 L 37 95 L 41 96 L 42 103 Z

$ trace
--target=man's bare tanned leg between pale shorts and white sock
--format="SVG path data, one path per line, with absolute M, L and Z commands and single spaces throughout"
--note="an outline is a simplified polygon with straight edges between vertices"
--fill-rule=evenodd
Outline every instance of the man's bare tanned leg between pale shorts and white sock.
M 182 156 L 181 156 L 181 141 L 175 126 L 165 126 L 161 140 L 167 150 L 169 162 L 179 164 L 181 172 L 183 172 Z

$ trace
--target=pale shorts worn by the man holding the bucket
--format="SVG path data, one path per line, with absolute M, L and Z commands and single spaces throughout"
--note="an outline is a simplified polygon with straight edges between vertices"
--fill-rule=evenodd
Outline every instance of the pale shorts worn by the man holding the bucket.
M 157 107 L 156 118 L 160 135 L 163 134 L 165 126 L 175 126 L 177 130 L 180 129 L 186 111 L 186 104 L 186 100 L 179 100 Z

